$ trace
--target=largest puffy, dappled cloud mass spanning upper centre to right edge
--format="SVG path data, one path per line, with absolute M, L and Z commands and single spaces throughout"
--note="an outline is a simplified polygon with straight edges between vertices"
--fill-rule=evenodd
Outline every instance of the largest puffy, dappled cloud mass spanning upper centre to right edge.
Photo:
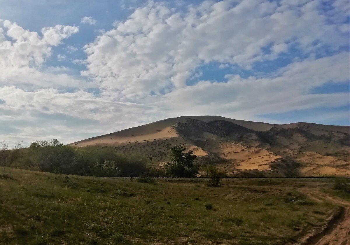
M 306 55 L 347 47 L 348 32 L 333 17 L 319 1 L 205 1 L 183 13 L 148 2 L 84 47 L 82 75 L 121 97 L 145 97 L 186 86 L 195 69 L 209 62 L 250 69 L 289 46 Z

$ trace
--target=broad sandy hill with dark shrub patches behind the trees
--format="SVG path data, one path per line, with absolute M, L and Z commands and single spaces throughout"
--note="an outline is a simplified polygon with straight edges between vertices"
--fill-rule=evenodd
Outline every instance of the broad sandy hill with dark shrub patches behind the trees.
M 267 124 L 218 116 L 169 118 L 128 128 L 71 146 L 114 147 L 123 153 L 167 160 L 171 146 L 183 144 L 201 164 L 215 163 L 265 176 L 350 176 L 348 126 L 312 123 Z

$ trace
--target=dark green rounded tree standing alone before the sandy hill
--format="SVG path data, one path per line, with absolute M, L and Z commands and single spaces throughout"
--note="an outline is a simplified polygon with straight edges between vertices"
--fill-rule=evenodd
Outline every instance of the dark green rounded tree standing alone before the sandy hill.
M 172 177 L 194 177 L 198 174 L 198 166 L 194 164 L 197 157 L 193 151 L 184 153 L 182 145 L 173 146 L 170 152 L 170 162 L 165 164 L 165 172 Z

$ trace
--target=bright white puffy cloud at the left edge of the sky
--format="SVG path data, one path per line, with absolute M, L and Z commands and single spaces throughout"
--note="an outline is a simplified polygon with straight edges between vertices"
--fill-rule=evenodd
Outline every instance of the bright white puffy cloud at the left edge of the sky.
M 52 74 L 52 71 L 43 65 L 52 55 L 52 47 L 77 33 L 78 27 L 44 27 L 40 36 L 8 20 L 0 21 L 0 26 L 0 87 L 16 85 L 26 89 L 38 89 L 94 86 L 62 71 Z M 65 56 L 57 55 L 57 59 L 64 60 Z

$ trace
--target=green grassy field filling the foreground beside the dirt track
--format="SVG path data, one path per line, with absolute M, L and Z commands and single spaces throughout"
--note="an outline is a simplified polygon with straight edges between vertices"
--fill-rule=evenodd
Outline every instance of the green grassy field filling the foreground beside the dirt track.
M 302 189 L 331 187 L 229 179 L 211 188 L 202 179 L 139 183 L 0 168 L 0 244 L 293 244 L 337 209 Z

